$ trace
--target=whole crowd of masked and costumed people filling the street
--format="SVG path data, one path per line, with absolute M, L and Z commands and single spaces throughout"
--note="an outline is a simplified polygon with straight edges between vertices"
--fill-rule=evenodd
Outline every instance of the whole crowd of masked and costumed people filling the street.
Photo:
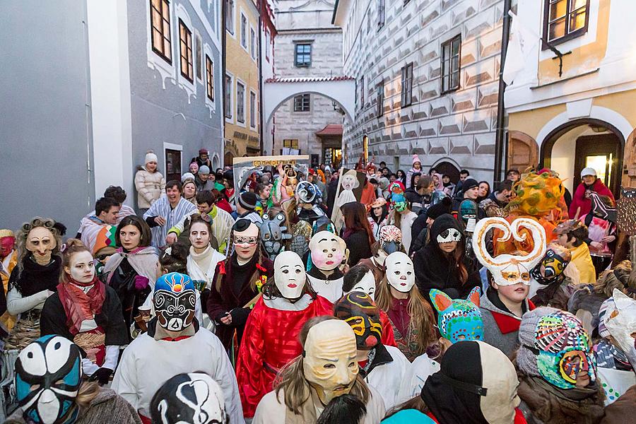
M 595 170 L 570 196 L 553 170 L 491 190 L 417 155 L 240 184 L 205 149 L 180 180 L 144 162 L 136 209 L 109 187 L 74 237 L 39 216 L 0 230 L 5 423 L 636 413 L 636 277 Z

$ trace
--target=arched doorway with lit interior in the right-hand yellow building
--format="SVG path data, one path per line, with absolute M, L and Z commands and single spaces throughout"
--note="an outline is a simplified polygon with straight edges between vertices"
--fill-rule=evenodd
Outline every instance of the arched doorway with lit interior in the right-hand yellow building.
M 623 177 L 625 138 L 615 126 L 599 119 L 576 119 L 551 131 L 541 145 L 541 165 L 559 172 L 573 192 L 581 170 L 593 167 L 596 175 L 618 197 Z

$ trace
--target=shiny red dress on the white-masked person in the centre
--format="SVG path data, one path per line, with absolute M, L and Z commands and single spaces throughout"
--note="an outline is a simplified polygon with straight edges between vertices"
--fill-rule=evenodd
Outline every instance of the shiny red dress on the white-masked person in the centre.
M 261 398 L 273 390 L 276 373 L 302 353 L 298 336 L 307 319 L 333 315 L 331 302 L 318 296 L 302 311 L 283 311 L 260 298 L 249 313 L 236 363 L 243 415 L 254 417 Z

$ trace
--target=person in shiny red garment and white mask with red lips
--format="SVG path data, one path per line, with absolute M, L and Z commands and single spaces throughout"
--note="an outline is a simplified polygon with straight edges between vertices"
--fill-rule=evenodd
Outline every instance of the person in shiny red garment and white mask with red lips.
M 302 259 L 282 252 L 274 262 L 274 277 L 263 286 L 263 296 L 249 314 L 236 364 L 239 391 L 247 418 L 281 368 L 302 352 L 298 334 L 312 317 L 331 314 L 331 303 L 307 284 Z

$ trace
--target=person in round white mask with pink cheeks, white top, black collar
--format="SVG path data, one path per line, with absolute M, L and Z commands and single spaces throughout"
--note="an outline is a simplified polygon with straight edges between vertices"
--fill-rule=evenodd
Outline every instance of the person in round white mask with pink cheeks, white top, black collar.
M 311 267 L 307 272 L 312 288 L 329 302 L 342 297 L 340 266 L 348 257 L 346 243 L 329 231 L 319 231 L 310 240 Z

